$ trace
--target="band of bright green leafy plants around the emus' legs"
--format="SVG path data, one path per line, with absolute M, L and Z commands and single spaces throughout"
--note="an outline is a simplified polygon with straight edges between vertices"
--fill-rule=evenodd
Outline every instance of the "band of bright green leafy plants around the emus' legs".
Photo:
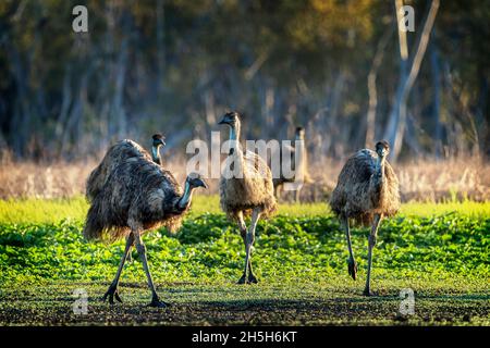
M 0 283 L 57 279 L 109 281 L 123 243 L 88 244 L 82 223 L 1 223 Z M 145 236 L 157 279 L 232 282 L 242 270 L 243 241 L 224 215 L 206 213 L 184 222 L 175 236 L 156 231 Z M 366 264 L 366 228 L 353 229 L 359 268 Z M 260 222 L 254 260 L 268 281 L 315 282 L 346 273 L 344 234 L 334 217 L 280 215 Z M 448 213 L 384 221 L 375 251 L 375 278 L 490 277 L 490 219 Z M 137 259 L 137 254 L 134 256 Z M 143 281 L 139 261 L 126 265 L 123 279 Z

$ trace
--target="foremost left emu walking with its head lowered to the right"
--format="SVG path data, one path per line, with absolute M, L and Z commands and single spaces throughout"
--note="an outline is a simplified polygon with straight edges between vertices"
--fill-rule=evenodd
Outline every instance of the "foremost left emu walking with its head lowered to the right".
M 171 172 L 155 163 L 150 154 L 132 140 L 122 140 L 109 149 L 87 181 L 90 208 L 83 231 L 87 240 L 126 238 L 118 272 L 102 300 L 109 297 L 111 304 L 114 298 L 122 302 L 118 293 L 119 278 L 134 243 L 151 290 L 150 306 L 168 306 L 160 301 L 155 289 L 142 235 L 160 226 L 176 231 L 197 187 L 207 187 L 198 174 L 189 174 L 182 189 Z

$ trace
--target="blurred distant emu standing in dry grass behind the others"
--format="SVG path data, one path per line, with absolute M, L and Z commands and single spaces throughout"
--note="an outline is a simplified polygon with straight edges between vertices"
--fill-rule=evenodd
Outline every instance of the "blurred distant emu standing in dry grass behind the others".
M 296 141 L 303 141 L 303 146 L 299 148 L 296 148 Z M 272 183 L 274 185 L 274 195 L 275 198 L 279 200 L 281 198 L 281 190 L 284 186 L 284 183 L 294 183 L 296 179 L 301 179 L 302 184 L 309 184 L 311 183 L 311 179 L 308 174 L 308 159 L 306 153 L 306 146 L 305 146 L 305 128 L 303 127 L 296 127 L 295 132 L 295 141 L 293 142 L 293 146 L 285 146 L 279 148 L 279 153 L 272 153 L 272 157 L 278 156 L 280 159 L 280 166 L 279 166 L 279 177 L 274 177 L 272 179 Z M 296 163 L 296 152 L 301 151 L 298 154 L 298 163 Z M 284 158 L 290 158 L 291 160 L 291 169 L 297 173 L 297 175 L 293 177 L 285 177 L 284 173 L 282 172 L 282 164 Z M 269 161 L 269 166 L 272 163 L 272 159 Z M 296 165 L 297 164 L 297 165 Z M 297 187 L 295 190 L 295 201 L 299 201 L 299 195 L 301 195 L 302 186 Z

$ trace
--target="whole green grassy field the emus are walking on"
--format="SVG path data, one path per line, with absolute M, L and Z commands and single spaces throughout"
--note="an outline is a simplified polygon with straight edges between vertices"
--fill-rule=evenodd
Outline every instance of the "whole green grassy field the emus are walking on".
M 160 296 L 149 302 L 142 264 L 126 264 L 123 304 L 100 301 L 123 243 L 88 244 L 87 204 L 70 200 L 0 201 L 0 325 L 26 324 L 415 324 L 490 325 L 490 203 L 406 203 L 384 221 L 372 287 L 363 297 L 367 228 L 354 228 L 358 279 L 347 275 L 344 234 L 326 204 L 282 204 L 258 226 L 257 285 L 235 285 L 242 239 L 218 198 L 196 197 L 176 235 L 145 236 Z M 400 313 L 400 290 L 415 291 L 415 314 Z M 88 294 L 76 315 L 73 291 Z

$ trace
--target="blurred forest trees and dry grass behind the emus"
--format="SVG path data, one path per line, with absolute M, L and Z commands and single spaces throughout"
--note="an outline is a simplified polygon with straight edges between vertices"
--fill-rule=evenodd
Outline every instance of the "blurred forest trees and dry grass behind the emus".
M 477 0 L 2 0 L 0 198 L 79 194 L 111 142 L 156 132 L 180 175 L 237 110 L 248 139 L 306 127 L 311 199 L 385 138 L 405 199 L 488 200 L 489 23 Z

